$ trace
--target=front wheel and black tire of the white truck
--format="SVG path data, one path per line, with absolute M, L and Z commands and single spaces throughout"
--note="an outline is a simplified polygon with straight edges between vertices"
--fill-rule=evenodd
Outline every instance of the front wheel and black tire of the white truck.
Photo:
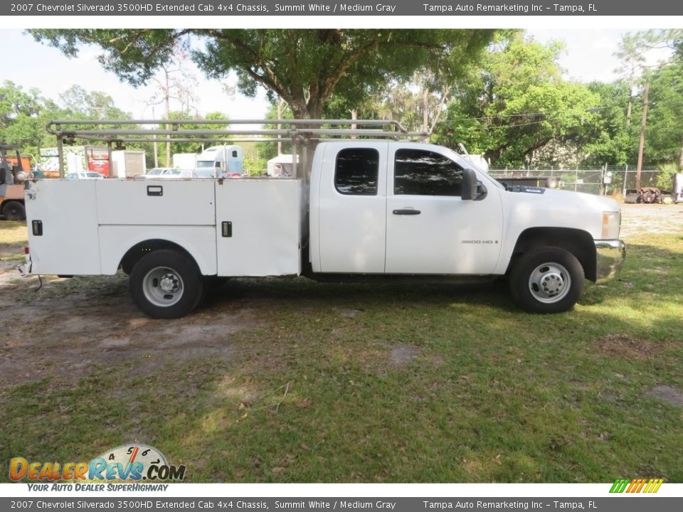
M 510 292 L 531 313 L 570 310 L 583 292 L 583 267 L 560 247 L 541 247 L 519 257 L 510 272 Z

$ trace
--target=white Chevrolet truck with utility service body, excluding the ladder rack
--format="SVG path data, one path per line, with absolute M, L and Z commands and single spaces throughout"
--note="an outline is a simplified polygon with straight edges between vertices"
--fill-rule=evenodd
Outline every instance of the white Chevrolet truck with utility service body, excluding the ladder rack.
M 24 274 L 130 275 L 155 318 L 192 311 L 212 276 L 507 277 L 526 311 L 567 311 L 625 257 L 615 201 L 505 188 L 450 149 L 320 142 L 311 176 L 33 180 Z

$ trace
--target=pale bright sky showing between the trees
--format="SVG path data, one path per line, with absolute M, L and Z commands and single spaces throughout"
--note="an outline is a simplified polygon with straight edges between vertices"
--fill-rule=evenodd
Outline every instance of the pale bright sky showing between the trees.
M 627 30 L 618 28 L 529 28 L 527 33 L 536 41 L 564 41 L 566 48 L 560 58 L 566 78 L 589 82 L 615 80 L 618 60 L 614 53 Z M 110 95 L 117 107 L 130 112 L 135 119 L 159 119 L 163 117 L 162 105 L 150 104 L 154 87 L 134 88 L 118 80 L 113 73 L 102 70 L 97 62 L 96 48 L 84 48 L 78 58 L 69 59 L 56 48 L 33 41 L 21 30 L 0 29 L 0 39 L 6 51 L 0 67 L 0 82 L 12 80 L 24 89 L 38 87 L 43 96 L 58 100 L 74 84 L 88 91 L 101 91 Z M 256 98 L 242 97 L 238 93 L 227 95 L 218 80 L 206 78 L 194 65 L 198 80 L 195 90 L 196 109 L 199 114 L 223 112 L 231 119 L 260 119 L 265 117 L 268 102 L 260 92 Z M 236 78 L 226 80 L 235 85 Z M 171 106 L 171 109 L 174 107 Z

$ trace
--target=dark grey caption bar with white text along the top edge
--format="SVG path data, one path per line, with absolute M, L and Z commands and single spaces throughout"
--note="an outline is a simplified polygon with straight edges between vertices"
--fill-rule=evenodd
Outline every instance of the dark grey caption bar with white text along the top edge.
M 0 16 L 681 16 L 672 0 L 41 0 L 0 5 Z

